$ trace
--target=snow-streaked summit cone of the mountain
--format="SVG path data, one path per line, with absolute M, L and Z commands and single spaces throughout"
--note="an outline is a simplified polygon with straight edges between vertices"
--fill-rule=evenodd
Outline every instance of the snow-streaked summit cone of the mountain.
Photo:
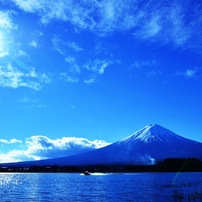
M 135 132 L 133 135 L 124 139 L 128 140 L 139 140 L 142 142 L 172 142 L 180 140 L 186 140 L 185 138 L 173 133 L 172 131 L 158 125 L 150 124 Z

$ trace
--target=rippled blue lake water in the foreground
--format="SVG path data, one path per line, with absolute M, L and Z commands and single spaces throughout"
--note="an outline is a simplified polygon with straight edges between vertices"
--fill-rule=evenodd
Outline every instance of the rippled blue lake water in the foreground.
M 202 173 L 5 173 L 0 201 L 202 201 Z

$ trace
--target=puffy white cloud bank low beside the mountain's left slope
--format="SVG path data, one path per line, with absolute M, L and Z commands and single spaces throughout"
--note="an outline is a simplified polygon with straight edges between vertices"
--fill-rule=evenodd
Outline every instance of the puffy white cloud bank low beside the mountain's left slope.
M 22 141 L 16 139 L 12 139 L 10 141 L 3 139 L 0 140 L 0 142 L 4 144 L 9 144 L 11 142 L 22 144 Z M 109 143 L 103 140 L 91 141 L 86 138 L 76 137 L 50 139 L 46 136 L 38 135 L 27 138 L 24 144 L 26 149 L 16 149 L 8 153 L 1 153 L 0 163 L 68 156 L 98 149 L 107 146 Z

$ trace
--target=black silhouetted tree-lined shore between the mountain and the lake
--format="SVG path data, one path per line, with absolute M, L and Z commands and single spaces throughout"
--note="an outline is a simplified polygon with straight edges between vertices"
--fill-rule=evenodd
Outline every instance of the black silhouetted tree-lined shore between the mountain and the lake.
M 89 166 L 59 166 L 33 165 L 30 167 L 7 166 L 0 167 L 0 172 L 202 172 L 202 161 L 196 158 L 168 158 L 154 165 L 89 165 Z

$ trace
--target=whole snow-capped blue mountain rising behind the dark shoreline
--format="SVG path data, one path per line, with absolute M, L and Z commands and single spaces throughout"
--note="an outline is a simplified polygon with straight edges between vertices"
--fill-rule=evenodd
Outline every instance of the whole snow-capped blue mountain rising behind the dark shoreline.
M 202 143 L 179 136 L 157 125 L 147 125 L 133 135 L 106 147 L 72 156 L 20 165 L 152 165 L 166 158 L 202 160 Z

